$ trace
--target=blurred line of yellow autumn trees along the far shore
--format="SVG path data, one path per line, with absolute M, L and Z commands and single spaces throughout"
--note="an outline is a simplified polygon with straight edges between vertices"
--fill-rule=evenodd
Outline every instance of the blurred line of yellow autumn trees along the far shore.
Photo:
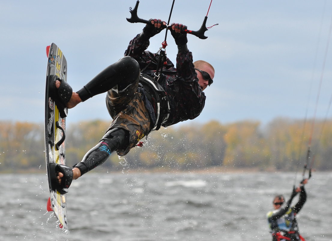
M 95 120 L 67 126 L 68 165 L 81 161 L 96 145 L 109 122 Z M 308 161 L 317 170 L 332 170 L 332 120 L 275 119 L 262 127 L 258 121 L 221 124 L 183 124 L 161 128 L 124 157 L 113 153 L 101 167 L 131 169 L 255 168 L 296 171 Z M 145 141 L 143 138 L 141 141 Z M 307 159 L 308 147 L 310 155 Z M 0 172 L 35 171 L 45 168 L 44 125 L 0 121 Z

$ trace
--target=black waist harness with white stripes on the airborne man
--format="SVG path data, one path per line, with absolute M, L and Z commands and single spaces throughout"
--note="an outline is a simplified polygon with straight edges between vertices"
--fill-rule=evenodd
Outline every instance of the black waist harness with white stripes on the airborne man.
M 156 121 L 152 130 L 159 130 L 165 123 L 171 113 L 169 102 L 166 98 L 167 93 L 164 88 L 152 77 L 146 74 L 140 74 L 139 85 L 145 90 L 145 96 L 153 105 Z

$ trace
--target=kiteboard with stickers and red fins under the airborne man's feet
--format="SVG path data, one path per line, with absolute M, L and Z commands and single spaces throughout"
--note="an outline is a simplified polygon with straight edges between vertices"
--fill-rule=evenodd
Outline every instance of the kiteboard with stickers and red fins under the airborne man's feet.
M 59 221 L 60 228 L 68 230 L 67 225 L 67 205 L 66 194 L 61 194 L 51 185 L 50 172 L 54 171 L 52 166 L 66 164 L 65 155 L 65 129 L 67 108 L 58 108 L 51 98 L 50 85 L 52 79 L 58 77 L 67 81 L 67 61 L 54 43 L 46 47 L 47 70 L 46 70 L 46 89 L 45 89 L 45 154 L 46 172 L 49 189 L 49 199 L 47 201 L 47 211 L 53 211 Z

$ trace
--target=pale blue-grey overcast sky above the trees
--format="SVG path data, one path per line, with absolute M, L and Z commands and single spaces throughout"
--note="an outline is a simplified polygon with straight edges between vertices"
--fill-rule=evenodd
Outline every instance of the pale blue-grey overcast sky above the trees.
M 2 0 L 0 120 L 43 122 L 45 48 L 50 43 L 63 51 L 67 81 L 74 91 L 119 60 L 144 27 L 126 21 L 135 3 Z M 138 16 L 167 21 L 171 4 L 141 0 Z M 198 30 L 209 4 L 210 0 L 176 0 L 170 22 Z M 324 118 L 332 94 L 332 46 L 326 51 L 331 17 L 332 1 L 326 0 L 213 0 L 207 26 L 219 25 L 206 32 L 205 40 L 188 36 L 194 61 L 207 60 L 215 68 L 214 83 L 205 90 L 206 106 L 190 121 L 264 124 L 276 117 L 303 119 L 306 110 L 310 118 L 320 81 L 317 118 Z M 148 50 L 159 50 L 164 33 L 151 39 Z M 167 56 L 175 63 L 171 35 L 167 43 Z M 111 121 L 105 94 L 70 109 L 67 123 L 94 119 Z

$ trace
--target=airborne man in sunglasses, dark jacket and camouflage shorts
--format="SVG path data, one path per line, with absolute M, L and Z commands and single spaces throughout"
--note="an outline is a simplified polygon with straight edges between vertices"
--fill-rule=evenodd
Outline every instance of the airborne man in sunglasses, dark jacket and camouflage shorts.
M 58 92 L 71 95 L 63 103 L 69 109 L 107 92 L 106 105 L 113 118 L 100 142 L 73 169 L 64 165 L 55 167 L 58 182 L 53 185 L 60 192 L 66 193 L 72 179 L 105 162 L 112 152 L 123 156 L 152 130 L 201 114 L 206 99 L 203 91 L 213 82 L 214 68 L 205 61 L 193 62 L 184 31 L 187 27 L 182 24 L 171 24 L 169 28 L 178 47 L 176 68 L 168 58 L 159 62 L 159 55 L 146 49 L 149 39 L 160 33 L 166 23 L 159 19 L 149 21 L 151 24 L 146 24 L 142 33 L 130 41 L 124 57 L 81 90 L 72 92 L 63 81 L 55 82 Z M 162 74 L 155 77 L 160 63 Z M 57 95 L 61 101 L 60 94 Z

